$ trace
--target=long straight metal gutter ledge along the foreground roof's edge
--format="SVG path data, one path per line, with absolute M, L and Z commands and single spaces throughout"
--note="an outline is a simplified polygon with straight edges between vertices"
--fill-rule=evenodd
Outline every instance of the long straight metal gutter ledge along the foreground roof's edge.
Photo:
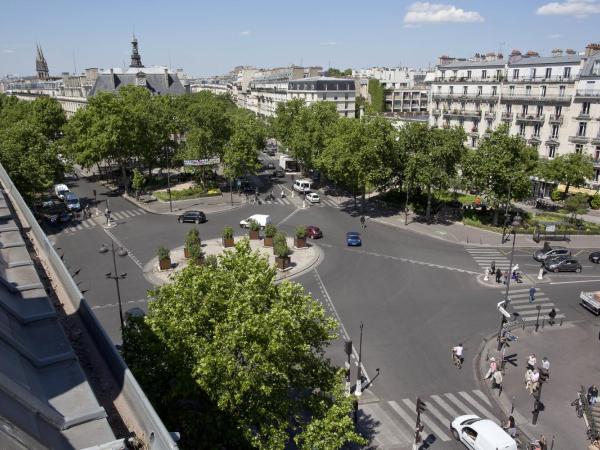
M 135 420 L 143 433 L 143 436 L 139 437 L 146 440 L 146 448 L 150 450 L 177 449 L 177 444 L 171 437 L 171 434 L 165 428 L 158 414 L 156 414 L 146 394 L 119 352 L 117 352 L 112 340 L 106 334 L 106 331 L 77 287 L 77 284 L 73 281 L 71 274 L 1 164 L 0 182 L 3 184 L 4 190 L 10 197 L 13 206 L 24 220 L 24 225 L 29 227 L 35 237 L 38 243 L 37 251 L 45 254 L 50 268 L 57 277 L 56 281 L 62 285 L 73 311 L 76 311 L 76 314 L 79 315 L 88 333 L 94 340 L 100 355 L 114 376 L 115 382 L 119 383 L 121 394 L 127 403 L 132 419 Z

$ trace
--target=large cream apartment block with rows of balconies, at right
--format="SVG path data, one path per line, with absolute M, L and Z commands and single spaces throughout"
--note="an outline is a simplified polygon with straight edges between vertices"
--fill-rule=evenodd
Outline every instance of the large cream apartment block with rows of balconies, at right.
M 600 162 L 600 46 L 585 52 L 554 50 L 543 57 L 514 50 L 476 55 L 470 60 L 443 56 L 436 67 L 429 106 L 433 126 L 462 126 L 468 145 L 502 123 L 538 149 L 541 158 L 586 153 Z M 596 164 L 600 180 L 600 164 Z

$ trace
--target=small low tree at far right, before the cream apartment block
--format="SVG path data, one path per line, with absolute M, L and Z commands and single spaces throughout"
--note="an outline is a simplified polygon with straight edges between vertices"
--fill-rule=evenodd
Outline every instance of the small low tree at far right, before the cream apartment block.
M 567 195 L 571 186 L 584 186 L 586 180 L 594 176 L 594 163 L 589 155 L 569 153 L 544 161 L 540 174 L 547 180 L 564 184 Z

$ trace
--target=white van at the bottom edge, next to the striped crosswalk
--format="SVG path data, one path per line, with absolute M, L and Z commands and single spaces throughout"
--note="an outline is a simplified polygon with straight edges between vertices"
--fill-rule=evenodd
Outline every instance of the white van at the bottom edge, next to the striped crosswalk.
M 472 450 L 517 450 L 516 441 L 500 425 L 474 414 L 458 416 L 450 423 L 450 432 Z

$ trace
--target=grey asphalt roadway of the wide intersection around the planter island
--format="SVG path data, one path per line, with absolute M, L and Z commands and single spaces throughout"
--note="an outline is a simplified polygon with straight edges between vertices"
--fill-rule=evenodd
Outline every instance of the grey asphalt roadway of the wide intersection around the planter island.
M 473 411 L 500 418 L 478 390 L 473 358 L 482 339 L 497 329 L 500 316 L 496 303 L 503 291 L 477 282 L 481 258 L 474 256 L 476 250 L 469 252 L 463 246 L 370 221 L 361 231 L 358 215 L 330 204 L 307 209 L 246 205 L 209 214 L 208 222 L 193 225 L 178 224 L 175 216 L 140 212 L 135 205 L 111 196 L 86 179 L 79 179 L 71 188 L 88 198 L 96 189 L 100 206 L 108 200 L 111 211 L 121 216 L 110 234 L 98 225 L 88 224 L 52 237 L 72 272 L 81 269 L 75 279 L 116 343 L 120 341 L 116 290 L 114 281 L 105 278 L 112 271 L 112 259 L 110 253 L 98 252 L 102 243 L 110 244 L 112 238 L 131 252 L 117 261 L 119 273 L 127 273 L 120 284 L 124 309 L 145 310 L 151 286 L 142 276 L 141 267 L 155 256 L 159 245 L 183 245 L 193 226 L 199 228 L 203 239 L 220 237 L 228 225 L 242 235 L 237 225 L 241 219 L 255 213 L 270 214 L 273 223 L 288 234 L 297 225 L 313 224 L 323 230 L 324 237 L 318 242 L 325 254 L 323 261 L 294 281 L 340 320 L 340 339 L 329 351 L 336 364 L 342 365 L 345 360 L 342 339 L 350 337 L 358 349 L 360 324 L 364 324 L 363 365 L 370 378 L 375 377 L 376 369 L 379 375 L 366 393 L 372 401 L 362 410 L 380 422 L 379 439 L 387 448 L 410 448 L 414 427 L 411 405 L 417 396 L 428 403 L 423 421 L 427 433 L 432 433 L 430 448 L 460 448 L 450 440 L 447 429 L 455 414 Z M 347 231 L 361 231 L 363 246 L 347 247 Z M 497 251 L 499 260 L 509 257 L 500 253 L 504 250 Z M 552 274 L 548 282 L 538 285 L 539 301 L 555 305 L 566 320 L 593 320 L 577 305 L 577 297 L 581 289 L 597 289 L 600 267 L 589 263 L 585 252 L 578 257 L 584 262 L 584 272 Z M 526 274 L 537 275 L 539 265 L 531 259 L 529 249 L 518 250 L 515 262 Z M 582 280 L 585 282 L 574 283 Z M 512 289 L 518 291 L 519 287 Z M 451 364 L 450 355 L 450 349 L 459 342 L 465 346 L 461 370 Z M 353 380 L 355 370 L 353 366 Z

